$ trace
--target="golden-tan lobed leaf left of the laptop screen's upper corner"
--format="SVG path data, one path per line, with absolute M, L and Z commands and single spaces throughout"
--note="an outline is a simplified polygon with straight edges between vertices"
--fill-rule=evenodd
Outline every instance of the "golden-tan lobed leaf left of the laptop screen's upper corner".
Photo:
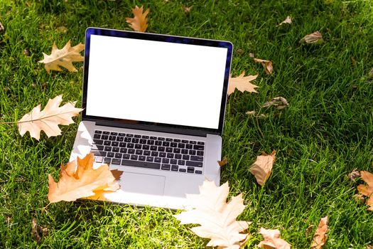
M 83 61 L 84 57 L 80 52 L 84 50 L 84 44 L 79 43 L 77 46 L 71 47 L 70 41 L 62 49 L 58 49 L 53 43 L 52 53 L 47 55 L 43 53 L 44 59 L 39 63 L 45 63 L 45 70 L 49 73 L 50 70 L 60 71 L 60 66 L 66 68 L 70 72 L 76 72 L 77 69 L 72 65 L 73 62 Z

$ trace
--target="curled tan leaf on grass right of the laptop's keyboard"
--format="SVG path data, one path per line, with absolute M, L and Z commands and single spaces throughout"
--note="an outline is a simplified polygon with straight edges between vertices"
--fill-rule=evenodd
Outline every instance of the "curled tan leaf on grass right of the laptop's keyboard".
M 250 167 L 249 171 L 255 176 L 256 182 L 263 186 L 272 173 L 272 166 L 276 160 L 276 150 L 271 154 L 261 152 L 261 156 L 256 157 L 256 161 Z

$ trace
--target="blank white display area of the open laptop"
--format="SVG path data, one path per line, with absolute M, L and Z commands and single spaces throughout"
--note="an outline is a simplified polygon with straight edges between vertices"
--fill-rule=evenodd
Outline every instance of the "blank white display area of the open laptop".
M 86 114 L 217 129 L 227 48 L 92 35 Z

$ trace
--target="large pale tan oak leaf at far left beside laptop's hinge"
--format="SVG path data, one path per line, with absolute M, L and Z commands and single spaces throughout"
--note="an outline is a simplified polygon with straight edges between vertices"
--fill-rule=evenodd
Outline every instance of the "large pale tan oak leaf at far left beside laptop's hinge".
M 40 139 L 40 131 L 44 131 L 48 137 L 58 136 L 61 134 L 58 124 L 73 124 L 72 117 L 79 115 L 81 108 L 75 108 L 75 102 L 68 102 L 59 107 L 62 102 L 62 95 L 56 96 L 53 100 L 48 100 L 44 110 L 40 112 L 40 105 L 23 115 L 17 122 L 18 130 L 21 136 L 30 132 L 31 137 Z

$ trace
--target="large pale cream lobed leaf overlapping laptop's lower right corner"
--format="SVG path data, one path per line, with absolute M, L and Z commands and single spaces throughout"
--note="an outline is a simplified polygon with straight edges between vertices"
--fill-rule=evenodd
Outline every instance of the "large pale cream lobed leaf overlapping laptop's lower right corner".
M 232 197 L 227 203 L 228 183 L 215 186 L 214 181 L 205 180 L 200 194 L 187 194 L 187 203 L 193 208 L 175 215 L 180 224 L 196 223 L 191 230 L 202 238 L 210 238 L 207 246 L 218 248 L 242 248 L 249 234 L 242 233 L 249 227 L 247 221 L 236 221 L 244 204 L 242 194 Z

